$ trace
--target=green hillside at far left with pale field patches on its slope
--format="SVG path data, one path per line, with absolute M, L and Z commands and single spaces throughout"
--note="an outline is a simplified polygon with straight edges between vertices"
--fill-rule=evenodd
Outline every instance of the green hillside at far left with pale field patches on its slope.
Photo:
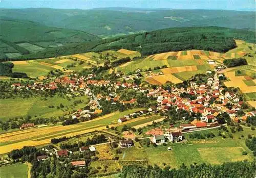
M 0 56 L 18 57 L 99 37 L 77 30 L 47 27 L 37 22 L 0 18 Z

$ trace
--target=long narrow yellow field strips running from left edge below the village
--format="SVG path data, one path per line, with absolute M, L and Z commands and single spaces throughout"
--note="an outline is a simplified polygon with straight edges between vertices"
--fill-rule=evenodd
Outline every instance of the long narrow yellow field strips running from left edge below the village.
M 113 116 L 115 113 L 111 113 L 90 121 L 82 122 L 79 124 L 74 124 L 74 125 L 66 125 L 66 126 L 52 126 L 52 127 L 46 127 L 46 128 L 33 128 L 30 130 L 24 130 L 24 131 L 18 131 L 18 132 L 13 132 L 13 133 L 6 133 L 0 135 L 0 143 L 1 142 L 11 142 L 11 141 L 19 141 L 17 143 L 11 143 L 8 145 L 0 146 L 0 154 L 5 154 L 7 152 L 10 152 L 12 149 L 20 149 L 23 148 L 24 146 L 39 146 L 43 144 L 48 144 L 51 142 L 52 138 L 59 138 L 59 137 L 72 137 L 75 135 L 82 135 L 86 133 L 91 133 L 94 131 L 101 131 L 106 129 L 106 125 L 93 125 L 90 127 L 86 127 L 85 124 L 89 122 L 94 122 L 97 120 L 101 120 L 104 118 L 108 118 Z M 150 117 L 150 116 L 148 116 Z M 138 117 L 129 121 L 126 121 L 124 123 L 118 123 L 118 124 L 110 124 L 109 126 L 121 126 L 124 124 L 136 122 L 139 120 L 144 120 L 148 117 Z M 82 126 L 84 126 L 84 130 L 82 130 Z M 80 130 L 81 131 L 76 131 Z M 69 133 L 74 129 L 74 132 Z M 62 131 L 61 133 L 59 133 Z M 64 132 L 63 132 L 64 131 Z M 27 141 L 22 141 L 24 139 L 27 139 Z M 36 141 L 40 140 L 40 141 Z

